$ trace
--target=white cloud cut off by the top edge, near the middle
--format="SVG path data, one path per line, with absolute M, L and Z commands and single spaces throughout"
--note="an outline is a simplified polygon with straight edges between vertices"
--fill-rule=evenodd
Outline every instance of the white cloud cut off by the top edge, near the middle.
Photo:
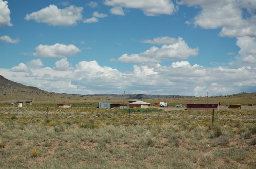
M 166 14 L 173 14 L 175 7 L 172 1 L 169 0 L 135 0 L 135 1 L 126 1 L 126 0 L 105 0 L 105 5 L 112 6 L 114 8 L 135 8 L 141 9 L 147 16 L 155 16 Z M 117 12 L 117 9 L 112 10 L 112 12 Z M 119 9 L 119 12 L 121 10 Z M 114 13 L 117 14 L 117 13 Z

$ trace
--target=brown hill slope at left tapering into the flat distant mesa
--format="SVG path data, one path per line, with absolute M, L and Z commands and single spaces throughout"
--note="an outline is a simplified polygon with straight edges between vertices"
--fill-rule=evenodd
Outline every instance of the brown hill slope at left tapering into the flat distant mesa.
M 12 92 L 11 92 L 12 89 Z M 12 95 L 12 98 L 11 98 Z M 157 98 L 184 98 L 194 96 L 179 95 L 146 95 L 146 94 L 125 94 L 125 99 L 157 99 Z M 86 98 L 112 98 L 122 99 L 123 94 L 95 94 L 95 95 L 77 95 L 67 93 L 54 93 L 41 90 L 36 87 L 26 86 L 0 75 L 0 100 L 86 100 Z

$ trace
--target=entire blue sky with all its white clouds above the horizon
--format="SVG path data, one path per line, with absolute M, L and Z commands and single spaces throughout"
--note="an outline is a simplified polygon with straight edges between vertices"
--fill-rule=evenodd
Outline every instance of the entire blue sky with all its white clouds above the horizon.
M 0 74 L 59 93 L 255 92 L 255 10 L 253 0 L 0 0 Z

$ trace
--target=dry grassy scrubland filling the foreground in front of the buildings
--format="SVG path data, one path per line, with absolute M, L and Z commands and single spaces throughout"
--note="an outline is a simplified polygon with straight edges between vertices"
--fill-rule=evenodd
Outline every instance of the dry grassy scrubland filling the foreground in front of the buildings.
M 0 107 L 0 168 L 255 168 L 256 111 Z

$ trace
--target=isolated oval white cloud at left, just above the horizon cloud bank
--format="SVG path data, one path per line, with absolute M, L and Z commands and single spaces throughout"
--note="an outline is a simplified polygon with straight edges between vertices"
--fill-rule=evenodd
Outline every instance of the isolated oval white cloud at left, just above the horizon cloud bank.
M 59 43 L 52 46 L 40 44 L 35 48 L 35 50 L 36 52 L 33 53 L 33 55 L 42 58 L 64 58 L 66 56 L 76 55 L 77 52 L 81 51 L 72 44 L 65 45 Z

